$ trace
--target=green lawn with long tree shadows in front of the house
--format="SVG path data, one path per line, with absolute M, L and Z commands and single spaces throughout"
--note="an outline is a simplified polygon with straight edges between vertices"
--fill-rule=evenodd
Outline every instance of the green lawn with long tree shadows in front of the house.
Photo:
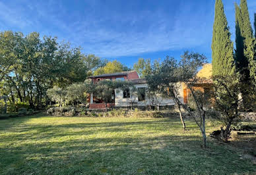
M 0 174 L 251 174 L 239 149 L 179 118 L 35 116 L 0 120 Z M 207 124 L 209 134 L 216 126 Z

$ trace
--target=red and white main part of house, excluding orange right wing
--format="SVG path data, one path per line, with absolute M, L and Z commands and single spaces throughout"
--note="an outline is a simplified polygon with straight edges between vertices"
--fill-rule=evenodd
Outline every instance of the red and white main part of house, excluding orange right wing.
M 146 107 L 147 105 L 152 104 L 152 98 L 150 99 L 146 95 L 146 79 L 139 78 L 136 71 L 127 71 L 127 72 L 117 72 L 113 74 L 102 74 L 98 76 L 89 77 L 94 84 L 101 80 L 124 80 L 130 81 L 134 84 L 135 88 L 139 93 L 124 93 L 121 89 L 115 89 L 113 94 L 113 101 L 107 103 L 108 107 L 129 107 L 135 105 L 137 107 Z M 183 100 L 183 91 L 180 89 L 181 100 Z M 106 109 L 106 104 L 100 99 L 96 99 L 94 94 L 90 94 L 90 107 L 89 109 Z M 160 95 L 154 97 L 154 101 L 158 101 L 159 106 L 174 106 L 173 99 L 164 99 Z

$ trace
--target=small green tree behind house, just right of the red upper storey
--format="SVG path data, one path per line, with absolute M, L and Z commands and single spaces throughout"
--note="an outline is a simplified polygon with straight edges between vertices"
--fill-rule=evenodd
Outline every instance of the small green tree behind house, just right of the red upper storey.
M 137 71 L 140 78 L 145 78 L 152 72 L 151 59 L 139 59 L 139 61 L 133 65 L 133 69 Z

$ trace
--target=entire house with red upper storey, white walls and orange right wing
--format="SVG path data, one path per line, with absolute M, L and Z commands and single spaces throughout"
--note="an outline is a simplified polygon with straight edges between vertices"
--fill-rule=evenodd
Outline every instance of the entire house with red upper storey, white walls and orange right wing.
M 212 90 L 212 80 L 210 80 L 210 76 L 212 76 L 212 64 L 205 64 L 201 70 L 199 70 L 198 77 L 205 78 L 205 82 L 194 82 L 193 88 L 199 89 L 205 93 L 210 93 Z M 152 105 L 152 102 L 157 102 L 159 106 L 174 106 L 174 99 L 166 99 L 160 97 L 160 95 L 156 94 L 153 98 L 147 97 L 146 88 L 148 85 L 146 84 L 146 79 L 139 78 L 136 71 L 127 71 L 127 72 L 116 72 L 113 74 L 102 74 L 98 76 L 90 76 L 89 77 L 94 84 L 101 80 L 123 80 L 130 81 L 133 83 L 135 88 L 139 93 L 124 93 L 121 89 L 115 89 L 113 91 L 113 99 L 108 103 L 108 107 L 129 107 L 131 105 L 137 107 L 146 107 L 148 105 Z M 179 84 L 179 100 L 183 103 L 189 102 L 189 95 L 191 95 L 191 91 L 187 88 L 187 84 L 180 83 Z M 101 99 L 96 99 L 94 94 L 90 94 L 90 107 L 89 109 L 106 109 L 106 104 Z

